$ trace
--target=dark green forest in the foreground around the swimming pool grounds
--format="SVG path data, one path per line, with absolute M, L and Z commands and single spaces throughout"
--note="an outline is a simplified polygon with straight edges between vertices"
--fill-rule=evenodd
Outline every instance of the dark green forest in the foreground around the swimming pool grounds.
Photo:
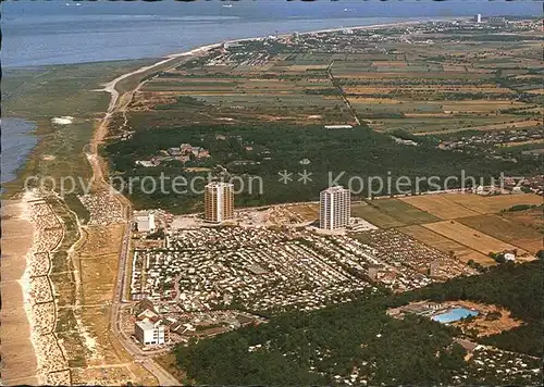
M 460 335 L 457 328 L 417 315 L 395 320 L 385 311 L 424 299 L 503 305 L 524 324 L 479 341 L 540 357 L 543 269 L 543 261 L 499 265 L 480 276 L 403 295 L 382 294 L 312 313 L 290 312 L 259 326 L 178 346 L 175 354 L 180 367 L 198 384 L 325 385 L 356 369 L 370 385 L 449 385 L 456 375 L 467 375 L 466 384 L 504 384 L 498 373 L 484 378 L 463 360 L 465 349 L 454 341 Z

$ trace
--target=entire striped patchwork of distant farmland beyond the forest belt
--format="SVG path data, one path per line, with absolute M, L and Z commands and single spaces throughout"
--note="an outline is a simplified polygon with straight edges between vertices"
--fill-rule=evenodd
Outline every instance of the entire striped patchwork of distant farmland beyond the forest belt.
M 502 41 L 468 27 L 410 36 L 384 42 L 364 32 L 318 34 L 311 42 L 289 37 L 219 47 L 156 74 L 133 108 L 205 124 L 358 120 L 379 132 L 418 135 L 536 125 L 524 123 L 539 118 L 533 109 L 541 102 L 534 34 Z

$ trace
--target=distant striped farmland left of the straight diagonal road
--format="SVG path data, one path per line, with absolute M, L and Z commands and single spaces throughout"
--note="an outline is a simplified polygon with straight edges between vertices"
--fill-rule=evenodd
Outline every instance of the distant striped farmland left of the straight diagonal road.
M 147 114 L 157 110 L 181 118 L 182 108 L 185 117 L 208 124 L 355 124 L 326 73 L 330 57 L 293 53 L 263 59 L 254 52 L 233 59 L 215 52 L 206 66 L 182 65 L 146 83 L 133 109 L 146 107 Z

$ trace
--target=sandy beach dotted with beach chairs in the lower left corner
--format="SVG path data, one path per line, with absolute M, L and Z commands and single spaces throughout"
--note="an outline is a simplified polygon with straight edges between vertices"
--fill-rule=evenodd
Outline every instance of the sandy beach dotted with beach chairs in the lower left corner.
M 54 285 L 50 278 L 51 255 L 64 237 L 62 222 L 37 191 L 25 191 L 17 199 L 3 204 L 14 210 L 9 214 L 9 219 L 2 219 L 4 235 L 8 234 L 9 238 L 14 234 L 18 244 L 2 244 L 2 248 L 10 252 L 9 262 L 5 262 L 5 257 L 2 259 L 2 274 L 11 279 L 22 271 L 20 278 L 8 283 L 16 283 L 21 287 L 21 291 L 16 294 L 22 296 L 22 301 L 18 304 L 12 302 L 9 309 L 2 309 L 2 323 L 7 324 L 2 334 L 9 337 L 9 340 L 2 337 L 2 345 L 5 341 L 12 344 L 8 348 L 4 346 L 2 350 L 3 383 L 65 384 L 70 382 L 67 362 L 64 349 L 55 335 L 57 301 Z M 23 229 L 25 232 L 21 236 Z M 12 267 L 18 271 L 15 273 L 10 270 Z M 15 294 L 4 283 L 2 292 L 10 299 Z M 13 315 L 17 316 L 16 321 L 10 319 Z M 25 316 L 24 320 L 22 315 Z M 12 326 L 15 322 L 16 326 Z M 12 336 L 18 337 L 12 339 Z M 25 364 L 24 367 L 17 366 L 21 363 Z

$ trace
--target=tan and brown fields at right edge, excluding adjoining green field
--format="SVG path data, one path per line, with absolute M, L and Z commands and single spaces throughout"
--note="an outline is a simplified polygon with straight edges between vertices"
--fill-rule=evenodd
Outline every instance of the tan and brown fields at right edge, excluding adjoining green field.
M 528 259 L 542 249 L 537 209 L 502 212 L 516 204 L 542 204 L 537 195 L 500 195 L 482 197 L 472 194 L 425 195 L 401 198 L 443 222 L 398 228 L 438 250 L 453 251 L 462 261 L 473 260 L 482 265 L 494 264 L 490 252 L 518 250 Z M 532 214 L 532 215 L 531 215 Z M 523 223 L 524 220 L 524 223 Z

